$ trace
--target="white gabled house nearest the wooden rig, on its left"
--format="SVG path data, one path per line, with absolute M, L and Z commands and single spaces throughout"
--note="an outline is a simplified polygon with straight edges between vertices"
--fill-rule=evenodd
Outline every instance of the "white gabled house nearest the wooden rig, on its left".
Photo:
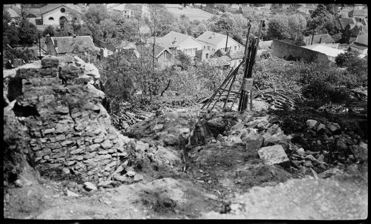
M 231 37 L 228 37 L 227 43 L 227 35 L 218 34 L 211 31 L 204 32 L 197 38 L 197 41 L 202 43 L 202 49 L 211 50 L 213 52 L 217 51 L 218 49 L 225 50 L 226 44 L 227 51 L 241 50 L 242 47 L 242 45 L 233 40 Z

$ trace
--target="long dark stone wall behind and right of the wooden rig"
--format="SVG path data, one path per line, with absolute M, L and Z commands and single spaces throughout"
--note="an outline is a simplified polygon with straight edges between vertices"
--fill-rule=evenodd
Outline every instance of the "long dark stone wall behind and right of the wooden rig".
M 273 40 L 272 55 L 286 60 L 303 60 L 304 62 L 324 62 L 329 63 L 327 56 L 314 50 L 306 49 L 286 42 Z

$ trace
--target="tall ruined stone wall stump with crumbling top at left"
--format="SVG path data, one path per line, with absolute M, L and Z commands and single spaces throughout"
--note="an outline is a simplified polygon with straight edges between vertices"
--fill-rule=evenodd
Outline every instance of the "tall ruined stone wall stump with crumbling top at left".
M 98 78 L 93 64 L 69 55 L 46 56 L 17 70 L 14 83 L 21 86 L 13 88 L 21 91 L 13 110 L 29 129 L 42 175 L 55 178 L 68 168 L 70 178 L 102 181 L 128 156 L 130 139 L 110 125 L 104 93 L 93 87 Z

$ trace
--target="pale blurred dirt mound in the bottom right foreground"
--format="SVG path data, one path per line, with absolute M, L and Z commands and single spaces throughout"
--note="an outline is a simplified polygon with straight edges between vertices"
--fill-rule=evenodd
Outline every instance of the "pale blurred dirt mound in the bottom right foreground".
M 233 198 L 223 213 L 205 219 L 364 220 L 368 217 L 367 164 L 329 179 L 292 179 L 253 187 Z M 361 176 L 361 177 L 360 177 Z

